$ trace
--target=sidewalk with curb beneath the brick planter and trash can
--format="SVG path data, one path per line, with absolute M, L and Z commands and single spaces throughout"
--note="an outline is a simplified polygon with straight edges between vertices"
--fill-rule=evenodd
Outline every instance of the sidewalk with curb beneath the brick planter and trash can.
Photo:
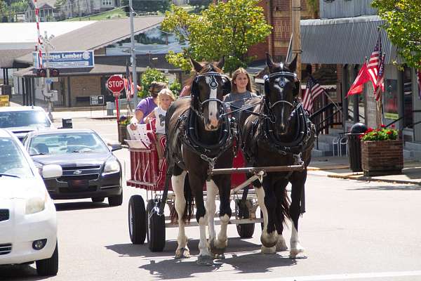
M 402 174 L 391 176 L 363 176 L 362 172 L 353 173 L 349 169 L 348 157 L 313 157 L 308 170 L 323 171 L 329 178 L 421 185 L 421 162 L 417 161 L 404 162 Z

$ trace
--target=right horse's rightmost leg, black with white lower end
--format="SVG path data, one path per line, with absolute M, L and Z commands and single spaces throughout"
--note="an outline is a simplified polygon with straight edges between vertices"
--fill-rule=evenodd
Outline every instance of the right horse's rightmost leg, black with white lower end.
M 304 247 L 300 244 L 298 237 L 298 218 L 301 213 L 301 194 L 304 190 L 305 180 L 307 178 L 307 170 L 294 176 L 291 180 L 291 205 L 289 209 L 292 221 L 292 233 L 290 239 L 290 257 L 295 257 L 304 252 Z

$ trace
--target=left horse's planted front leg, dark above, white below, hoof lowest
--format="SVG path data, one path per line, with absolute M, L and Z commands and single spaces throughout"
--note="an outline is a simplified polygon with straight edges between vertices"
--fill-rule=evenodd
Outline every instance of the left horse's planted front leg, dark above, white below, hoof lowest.
M 194 194 L 194 201 L 196 202 L 196 221 L 199 223 L 200 242 L 199 242 L 199 256 L 197 257 L 198 266 L 212 266 L 213 256 L 211 256 L 208 249 L 208 242 L 206 241 L 206 209 L 203 203 L 203 185 L 205 178 L 203 175 L 196 175 L 189 173 L 189 182 Z

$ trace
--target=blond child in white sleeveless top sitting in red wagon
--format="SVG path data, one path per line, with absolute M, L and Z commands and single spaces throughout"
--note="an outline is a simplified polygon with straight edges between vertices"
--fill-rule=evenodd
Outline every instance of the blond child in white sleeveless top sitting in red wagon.
M 159 157 L 159 167 L 161 168 L 163 159 L 163 149 L 161 147 L 161 139 L 165 136 L 165 117 L 168 107 L 175 100 L 175 96 L 170 89 L 164 88 L 158 93 L 158 106 L 154 108 L 154 111 L 150 112 L 147 117 L 143 119 L 143 122 L 149 123 L 152 119 L 155 119 L 156 128 L 156 150 Z

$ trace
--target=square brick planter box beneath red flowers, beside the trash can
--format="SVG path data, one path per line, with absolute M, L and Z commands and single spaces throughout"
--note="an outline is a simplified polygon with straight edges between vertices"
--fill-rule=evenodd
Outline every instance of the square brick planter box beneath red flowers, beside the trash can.
M 402 174 L 402 140 L 361 141 L 361 162 L 364 176 Z

